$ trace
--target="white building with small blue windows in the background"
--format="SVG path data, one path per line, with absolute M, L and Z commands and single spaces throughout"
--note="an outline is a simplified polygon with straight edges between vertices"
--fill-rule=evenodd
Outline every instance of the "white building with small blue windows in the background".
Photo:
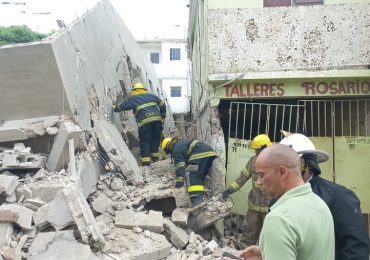
M 145 56 L 157 72 L 166 92 L 172 113 L 190 111 L 190 74 L 185 37 L 160 38 L 138 41 Z

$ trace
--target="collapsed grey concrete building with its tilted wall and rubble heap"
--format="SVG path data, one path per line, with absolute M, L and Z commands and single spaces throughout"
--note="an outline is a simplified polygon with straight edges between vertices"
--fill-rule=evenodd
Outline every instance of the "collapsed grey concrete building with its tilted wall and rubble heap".
M 221 258 L 226 242 L 195 232 L 231 205 L 189 218 L 171 161 L 139 166 L 134 115 L 112 111 L 136 82 L 166 96 L 108 1 L 1 47 L 0 70 L 0 259 Z M 175 132 L 169 107 L 164 126 Z

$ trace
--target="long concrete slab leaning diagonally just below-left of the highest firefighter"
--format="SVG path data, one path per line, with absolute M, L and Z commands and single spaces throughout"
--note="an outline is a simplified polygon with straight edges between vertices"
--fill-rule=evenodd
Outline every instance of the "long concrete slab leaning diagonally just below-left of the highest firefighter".
M 94 132 L 100 145 L 115 164 L 117 170 L 134 185 L 143 183 L 143 176 L 136 159 L 123 141 L 118 129 L 100 115 L 92 116 Z

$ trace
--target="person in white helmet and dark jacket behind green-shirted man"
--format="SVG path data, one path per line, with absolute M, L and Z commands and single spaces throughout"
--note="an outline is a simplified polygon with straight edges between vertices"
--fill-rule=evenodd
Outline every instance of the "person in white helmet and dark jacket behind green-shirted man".
M 346 187 L 321 178 L 319 163 L 329 160 L 305 135 L 291 134 L 280 142 L 301 156 L 302 177 L 328 205 L 334 220 L 335 259 L 369 259 L 369 236 L 361 214 L 360 200 Z

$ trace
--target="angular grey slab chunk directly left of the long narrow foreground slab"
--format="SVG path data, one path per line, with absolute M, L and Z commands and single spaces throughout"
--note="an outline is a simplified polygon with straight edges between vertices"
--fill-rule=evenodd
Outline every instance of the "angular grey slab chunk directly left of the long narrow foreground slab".
M 59 191 L 52 201 L 35 212 L 33 214 L 33 220 L 39 229 L 51 225 L 56 230 L 60 230 L 74 223 L 62 191 Z

